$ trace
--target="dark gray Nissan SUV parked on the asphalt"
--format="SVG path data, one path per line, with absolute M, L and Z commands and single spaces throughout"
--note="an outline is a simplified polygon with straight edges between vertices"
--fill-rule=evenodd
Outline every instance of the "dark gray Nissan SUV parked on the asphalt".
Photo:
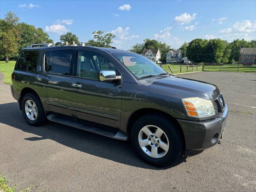
M 46 119 L 129 140 L 154 166 L 169 166 L 222 138 L 228 107 L 213 84 L 170 76 L 115 48 L 30 45 L 12 74 L 28 124 Z

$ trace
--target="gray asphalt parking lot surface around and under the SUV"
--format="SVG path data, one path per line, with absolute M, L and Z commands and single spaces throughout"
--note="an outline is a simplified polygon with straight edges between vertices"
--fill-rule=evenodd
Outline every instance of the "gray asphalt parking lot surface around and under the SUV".
M 53 122 L 29 126 L 0 78 L 0 171 L 40 191 L 256 191 L 256 74 L 178 75 L 216 84 L 229 107 L 222 144 L 172 168 L 150 166 L 129 142 Z

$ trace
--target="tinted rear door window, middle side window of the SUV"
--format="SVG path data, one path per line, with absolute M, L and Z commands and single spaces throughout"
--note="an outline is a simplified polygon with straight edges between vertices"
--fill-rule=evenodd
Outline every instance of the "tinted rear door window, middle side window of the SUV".
M 72 50 L 58 50 L 46 52 L 44 56 L 44 68 L 46 72 L 69 75 Z

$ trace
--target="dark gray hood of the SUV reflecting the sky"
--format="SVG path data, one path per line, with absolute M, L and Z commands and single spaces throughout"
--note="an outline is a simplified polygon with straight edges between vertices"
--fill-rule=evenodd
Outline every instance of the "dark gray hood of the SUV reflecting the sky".
M 150 78 L 140 81 L 147 86 L 159 87 L 160 89 L 172 89 L 178 91 L 180 94 L 184 92 L 187 97 L 197 96 L 200 98 L 214 99 L 220 95 L 220 90 L 214 84 L 180 78 L 176 76 L 166 78 Z M 186 93 L 185 93 L 186 92 Z M 189 94 L 188 94 L 189 93 Z M 184 97 L 184 96 L 183 96 Z

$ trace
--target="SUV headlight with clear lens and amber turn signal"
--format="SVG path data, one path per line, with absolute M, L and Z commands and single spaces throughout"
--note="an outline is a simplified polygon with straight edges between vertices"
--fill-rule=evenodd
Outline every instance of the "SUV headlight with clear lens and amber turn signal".
M 190 117 L 208 117 L 215 115 L 214 106 L 211 100 L 199 97 L 182 99 L 185 109 Z

